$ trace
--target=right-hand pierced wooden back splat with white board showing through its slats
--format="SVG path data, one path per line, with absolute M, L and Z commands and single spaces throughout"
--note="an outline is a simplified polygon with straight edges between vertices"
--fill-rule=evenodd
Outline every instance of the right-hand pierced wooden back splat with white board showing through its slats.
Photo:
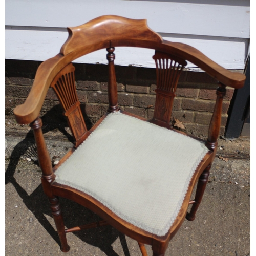
M 170 116 L 178 80 L 187 62 L 179 57 L 156 51 L 153 59 L 156 62 L 157 89 L 153 123 L 170 127 Z

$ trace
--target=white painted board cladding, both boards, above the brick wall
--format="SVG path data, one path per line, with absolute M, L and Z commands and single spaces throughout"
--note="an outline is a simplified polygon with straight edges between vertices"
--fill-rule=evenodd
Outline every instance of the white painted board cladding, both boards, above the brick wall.
M 227 69 L 244 69 L 249 5 L 249 0 L 6 0 L 6 58 L 46 60 L 66 41 L 66 27 L 113 14 L 146 18 L 164 39 L 194 46 Z M 152 50 L 120 48 L 115 53 L 117 65 L 155 67 Z M 75 62 L 106 63 L 105 54 L 100 50 Z

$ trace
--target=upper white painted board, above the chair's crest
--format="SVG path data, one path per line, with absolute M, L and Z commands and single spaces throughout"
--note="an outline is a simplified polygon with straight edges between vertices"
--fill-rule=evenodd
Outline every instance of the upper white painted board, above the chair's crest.
M 249 6 L 249 0 L 6 0 L 6 25 L 72 27 L 113 14 L 146 18 L 156 32 L 250 38 Z

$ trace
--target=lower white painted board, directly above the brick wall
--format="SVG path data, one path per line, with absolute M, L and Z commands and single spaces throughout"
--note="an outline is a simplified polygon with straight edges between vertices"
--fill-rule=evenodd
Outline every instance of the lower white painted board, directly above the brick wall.
M 67 32 L 6 30 L 6 58 L 44 61 L 59 53 L 68 37 Z M 222 37 L 183 38 L 163 36 L 169 41 L 191 45 L 227 69 L 244 69 L 248 40 Z M 121 66 L 155 67 L 153 50 L 141 48 L 117 48 L 115 63 Z M 78 63 L 107 63 L 106 51 L 100 50 L 81 57 Z M 194 65 L 189 64 L 189 68 Z

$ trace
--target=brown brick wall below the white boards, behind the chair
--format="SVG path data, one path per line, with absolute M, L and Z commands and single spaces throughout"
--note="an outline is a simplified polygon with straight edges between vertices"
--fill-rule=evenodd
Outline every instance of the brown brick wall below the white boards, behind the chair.
M 6 114 L 12 115 L 16 105 L 23 103 L 33 83 L 39 62 L 7 60 Z M 108 108 L 108 66 L 81 65 L 76 67 L 76 87 L 82 111 L 95 123 Z M 15 69 L 14 69 L 14 68 Z M 155 70 L 139 67 L 116 66 L 118 103 L 121 109 L 151 119 L 155 105 Z M 181 121 L 184 131 L 197 136 L 207 136 L 208 124 L 216 99 L 215 79 L 204 72 L 183 71 L 174 100 L 172 119 Z M 228 108 L 233 89 L 227 88 L 223 102 L 221 135 L 224 134 Z M 58 104 L 50 89 L 42 115 Z

